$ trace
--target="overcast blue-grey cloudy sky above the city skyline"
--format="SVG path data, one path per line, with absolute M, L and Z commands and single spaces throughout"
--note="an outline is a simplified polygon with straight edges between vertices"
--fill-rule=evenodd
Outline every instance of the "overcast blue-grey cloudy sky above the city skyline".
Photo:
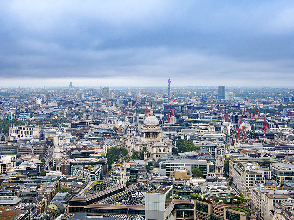
M 292 86 L 294 1 L 0 1 L 0 86 Z

